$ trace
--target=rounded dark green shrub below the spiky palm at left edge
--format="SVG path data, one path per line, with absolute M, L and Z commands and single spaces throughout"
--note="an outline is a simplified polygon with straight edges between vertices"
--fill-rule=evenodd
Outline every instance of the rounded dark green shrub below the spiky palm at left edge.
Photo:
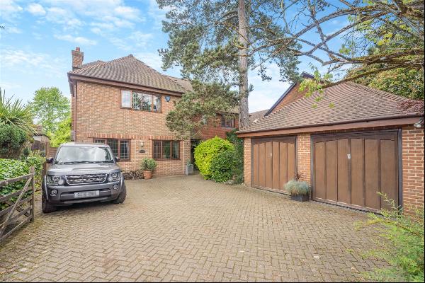
M 0 158 L 18 158 L 28 140 L 23 129 L 15 125 L 0 125 Z

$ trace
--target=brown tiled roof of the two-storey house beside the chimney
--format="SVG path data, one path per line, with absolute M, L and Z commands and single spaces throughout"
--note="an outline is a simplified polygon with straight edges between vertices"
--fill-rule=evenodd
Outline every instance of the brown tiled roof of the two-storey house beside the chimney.
M 132 83 L 138 86 L 147 86 L 177 93 L 186 93 L 188 91 L 180 83 L 155 71 L 131 54 L 108 62 L 96 61 L 82 64 L 81 69 L 69 71 L 69 74 Z

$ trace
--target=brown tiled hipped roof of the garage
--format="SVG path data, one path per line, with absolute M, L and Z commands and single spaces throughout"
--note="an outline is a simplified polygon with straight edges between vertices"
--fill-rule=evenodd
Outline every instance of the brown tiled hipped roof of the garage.
M 317 108 L 314 108 L 315 98 L 318 96 L 319 93 L 314 93 L 309 98 L 290 103 L 239 132 L 263 132 L 419 116 L 418 113 L 406 112 L 400 108 L 400 103 L 409 100 L 408 98 L 358 83 L 347 82 L 325 88 L 321 94 L 324 98 L 317 103 Z M 330 107 L 331 103 L 334 104 L 333 107 Z

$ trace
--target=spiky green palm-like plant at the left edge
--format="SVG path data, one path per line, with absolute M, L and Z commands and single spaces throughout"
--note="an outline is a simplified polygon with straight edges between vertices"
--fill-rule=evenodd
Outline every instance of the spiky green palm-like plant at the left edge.
M 0 88 L 0 126 L 14 125 L 22 129 L 28 136 L 33 136 L 33 111 L 21 99 L 6 98 L 5 92 Z

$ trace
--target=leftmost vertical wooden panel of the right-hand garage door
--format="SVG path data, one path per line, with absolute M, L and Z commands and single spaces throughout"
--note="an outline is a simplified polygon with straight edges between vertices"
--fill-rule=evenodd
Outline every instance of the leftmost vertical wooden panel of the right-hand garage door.
M 324 142 L 314 144 L 314 197 L 326 199 L 325 156 Z

